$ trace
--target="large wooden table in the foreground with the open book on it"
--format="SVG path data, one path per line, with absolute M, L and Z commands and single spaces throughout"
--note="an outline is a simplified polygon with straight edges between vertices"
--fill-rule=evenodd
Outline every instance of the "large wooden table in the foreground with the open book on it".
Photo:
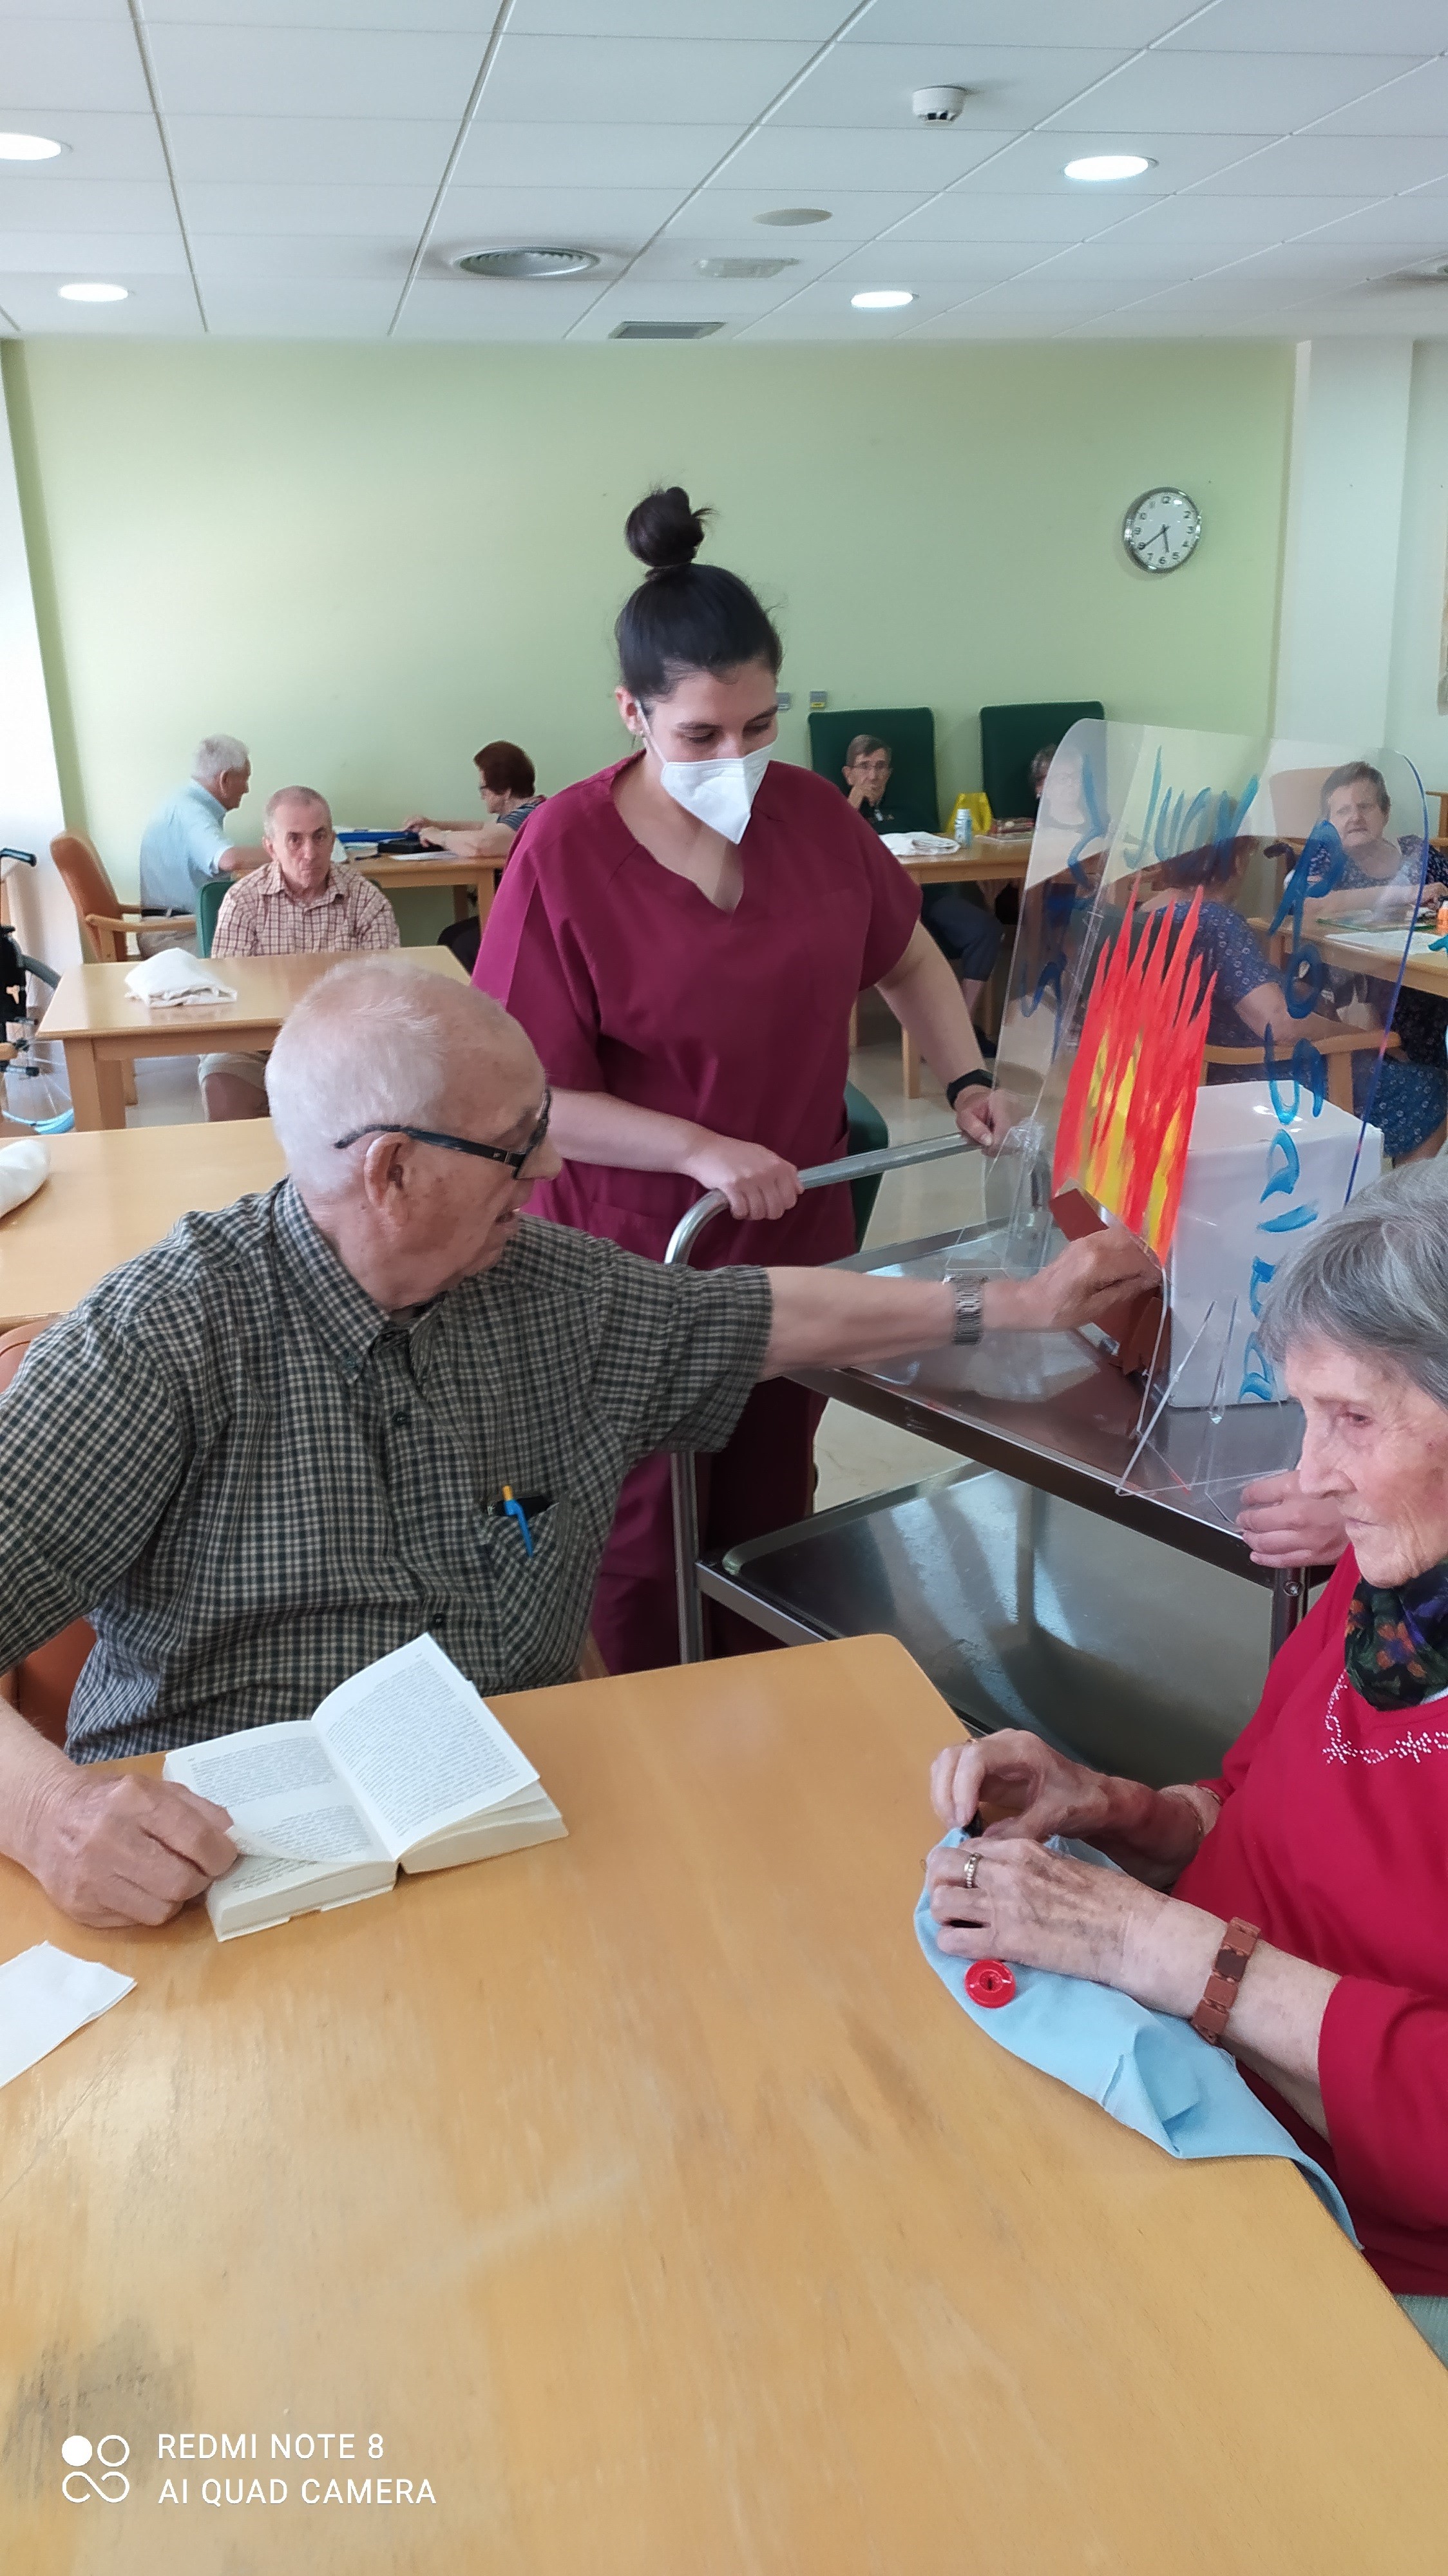
M 227 1947 L 0 1862 L 0 1955 L 137 1976 L 3 2097 L 15 2571 L 1438 2576 L 1448 2380 L 1296 2172 L 1172 2164 L 917 1955 L 956 1726 L 894 1641 L 500 1716 L 569 1842 Z

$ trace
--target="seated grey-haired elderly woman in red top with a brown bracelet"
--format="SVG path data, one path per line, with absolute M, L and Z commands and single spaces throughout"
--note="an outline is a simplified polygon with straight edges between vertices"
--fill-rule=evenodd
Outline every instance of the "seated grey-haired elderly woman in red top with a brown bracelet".
M 1445 1278 L 1448 1180 L 1409 1164 L 1273 1280 L 1260 1329 L 1306 1414 L 1301 1489 L 1337 1504 L 1348 1553 L 1219 1780 L 1152 1790 L 1020 1731 L 943 1752 L 930 1780 L 946 1824 L 997 1811 L 930 1855 L 940 1947 L 1098 1978 L 1229 2048 L 1443 2360 Z M 1121 1873 L 1046 1852 L 1049 1834 Z

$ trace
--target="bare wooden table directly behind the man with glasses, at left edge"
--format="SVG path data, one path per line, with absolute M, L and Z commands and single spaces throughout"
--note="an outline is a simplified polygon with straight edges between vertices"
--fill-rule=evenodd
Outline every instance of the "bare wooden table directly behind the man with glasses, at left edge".
M 46 1136 L 52 1172 L 0 1216 L 0 1332 L 67 1314 L 191 1208 L 271 1190 L 286 1162 L 271 1118 Z

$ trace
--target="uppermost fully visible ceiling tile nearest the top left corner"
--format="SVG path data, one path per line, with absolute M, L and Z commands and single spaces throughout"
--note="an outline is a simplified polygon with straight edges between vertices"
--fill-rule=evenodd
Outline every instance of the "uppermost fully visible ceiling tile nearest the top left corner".
M 451 116 L 461 118 L 482 44 L 474 36 L 314 26 L 157 26 L 152 62 L 167 116 Z

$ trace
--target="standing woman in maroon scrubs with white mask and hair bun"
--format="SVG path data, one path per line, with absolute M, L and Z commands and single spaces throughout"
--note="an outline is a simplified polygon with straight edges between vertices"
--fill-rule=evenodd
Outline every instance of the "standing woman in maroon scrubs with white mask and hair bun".
M 567 1162 L 533 1208 L 660 1260 L 721 1190 L 706 1265 L 832 1262 L 850 1195 L 801 1195 L 799 1170 L 845 1151 L 855 997 L 884 992 L 982 1141 L 989 1074 L 920 889 L 832 781 L 770 760 L 781 639 L 737 574 L 693 562 L 703 513 L 652 492 L 626 538 L 649 567 L 616 629 L 639 750 L 533 814 L 474 969 L 554 1092 Z M 804 1520 L 817 1422 L 801 1386 L 755 1388 L 701 1461 L 709 1548 Z M 678 1662 L 667 1458 L 624 1486 L 593 1633 L 613 1672 Z

